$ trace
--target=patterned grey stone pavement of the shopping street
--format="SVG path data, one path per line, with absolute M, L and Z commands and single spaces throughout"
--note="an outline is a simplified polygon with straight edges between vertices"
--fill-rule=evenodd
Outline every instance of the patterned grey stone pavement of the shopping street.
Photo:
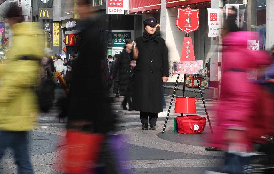
M 56 98 L 65 96 L 61 89 L 56 90 Z M 155 131 L 141 129 L 139 113 L 124 111 L 120 104 L 123 97 L 112 97 L 113 112 L 118 114 L 118 122 L 114 134 L 119 136 L 117 152 L 122 161 L 124 173 L 191 173 L 201 174 L 204 170 L 216 170 L 223 162 L 222 152 L 206 152 L 204 142 L 210 136 L 208 123 L 203 134 L 179 134 L 173 132 L 173 118 L 179 114 L 173 113 L 172 104 L 165 134 L 162 129 L 166 117 L 159 117 Z M 167 107 L 171 97 L 166 97 Z M 214 125 L 213 108 L 216 101 L 206 101 L 207 109 Z M 49 113 L 39 113 L 37 129 L 29 132 L 29 154 L 35 174 L 59 174 L 53 170 L 58 165 L 62 140 L 65 137 L 66 123 L 58 122 L 58 108 Z M 206 116 L 202 101 L 197 102 L 197 114 Z M 16 173 L 11 150 L 7 149 L 0 163 L 0 173 Z

